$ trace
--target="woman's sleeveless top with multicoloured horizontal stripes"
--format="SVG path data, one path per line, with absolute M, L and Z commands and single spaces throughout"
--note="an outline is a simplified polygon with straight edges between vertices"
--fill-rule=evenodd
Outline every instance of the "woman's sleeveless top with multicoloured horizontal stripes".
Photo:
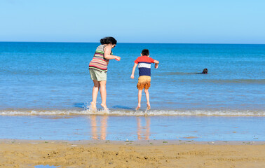
M 98 71 L 108 71 L 109 59 L 104 57 L 105 45 L 99 45 L 95 51 L 93 59 L 89 63 L 89 69 L 96 69 Z M 112 55 L 112 52 L 111 52 Z

